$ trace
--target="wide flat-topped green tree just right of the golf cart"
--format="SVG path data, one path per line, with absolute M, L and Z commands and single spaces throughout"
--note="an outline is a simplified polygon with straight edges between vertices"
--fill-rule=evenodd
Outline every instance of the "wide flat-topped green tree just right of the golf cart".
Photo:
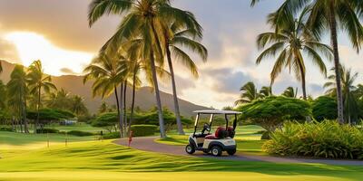
M 253 100 L 237 110 L 242 112 L 240 119 L 249 119 L 266 129 L 269 132 L 266 134 L 280 127 L 285 120 L 305 121 L 311 115 L 309 102 L 284 96 Z

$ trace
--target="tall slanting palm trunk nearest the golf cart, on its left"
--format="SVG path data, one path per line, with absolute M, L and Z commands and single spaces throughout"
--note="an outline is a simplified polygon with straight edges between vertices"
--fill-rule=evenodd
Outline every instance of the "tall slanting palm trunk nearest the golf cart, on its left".
M 180 135 L 185 135 L 184 130 L 182 129 L 181 112 L 179 110 L 178 95 L 176 93 L 175 75 L 174 75 L 174 70 L 172 67 L 172 54 L 170 52 L 168 44 L 166 45 L 165 49 L 166 49 L 166 55 L 168 57 L 169 70 L 170 70 L 170 73 L 172 76 L 172 97 L 174 99 L 174 112 L 175 112 L 175 118 L 176 118 L 176 125 L 178 127 L 178 133 Z

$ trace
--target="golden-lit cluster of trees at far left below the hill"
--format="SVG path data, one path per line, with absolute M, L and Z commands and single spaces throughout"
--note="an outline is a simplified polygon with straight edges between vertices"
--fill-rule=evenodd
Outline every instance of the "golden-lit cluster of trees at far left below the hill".
M 46 110 L 53 109 L 53 110 Z M 16 64 L 6 84 L 0 80 L 0 117 L 20 125 L 21 132 L 29 133 L 29 119 L 34 120 L 34 133 L 41 125 L 40 119 L 67 110 L 74 115 L 86 115 L 88 110 L 81 96 L 57 90 L 52 76 L 44 73 L 41 61 L 34 61 L 28 68 Z M 51 113 L 49 113 L 51 112 Z M 72 114 L 71 113 L 71 114 Z M 31 114 L 31 115 L 29 115 Z M 56 118 L 55 118 L 56 119 Z

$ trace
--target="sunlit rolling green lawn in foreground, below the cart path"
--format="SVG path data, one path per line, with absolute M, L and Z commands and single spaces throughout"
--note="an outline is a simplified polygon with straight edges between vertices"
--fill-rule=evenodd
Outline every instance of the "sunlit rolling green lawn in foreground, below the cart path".
M 0 180 L 359 180 L 363 167 L 175 157 L 110 141 L 40 148 L 0 159 Z M 142 172 L 142 173 L 139 173 Z

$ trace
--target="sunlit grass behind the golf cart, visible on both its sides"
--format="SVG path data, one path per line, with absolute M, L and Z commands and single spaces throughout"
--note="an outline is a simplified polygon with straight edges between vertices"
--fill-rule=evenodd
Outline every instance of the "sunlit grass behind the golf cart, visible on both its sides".
M 250 154 L 266 155 L 261 151 L 264 140 L 260 140 L 261 135 L 256 134 L 256 132 L 260 130 L 263 129 L 255 125 L 237 127 L 235 139 L 237 141 L 238 150 Z M 169 145 L 186 145 L 188 144 L 188 133 L 191 133 L 192 131 L 192 129 L 187 129 L 187 135 L 185 136 L 177 135 L 176 132 L 170 132 L 168 138 L 157 139 L 156 141 Z

